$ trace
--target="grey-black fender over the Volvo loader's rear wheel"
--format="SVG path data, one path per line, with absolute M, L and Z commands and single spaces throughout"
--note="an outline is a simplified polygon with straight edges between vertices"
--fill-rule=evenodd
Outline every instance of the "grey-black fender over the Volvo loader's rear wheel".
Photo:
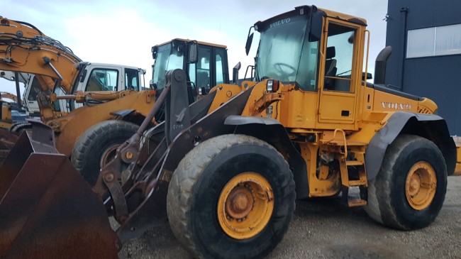
M 450 137 L 445 120 L 433 114 L 397 111 L 387 121 L 386 126 L 373 136 L 365 150 L 368 180 L 373 180 L 378 175 L 387 146 L 400 134 L 421 136 L 435 143 L 445 158 L 448 175 L 453 174 L 456 165 L 456 145 Z

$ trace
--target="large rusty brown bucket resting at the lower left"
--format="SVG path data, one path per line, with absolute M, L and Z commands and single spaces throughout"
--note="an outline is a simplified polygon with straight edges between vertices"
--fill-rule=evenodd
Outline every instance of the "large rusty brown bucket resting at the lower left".
M 0 258 L 118 258 L 103 202 L 33 124 L 0 166 Z

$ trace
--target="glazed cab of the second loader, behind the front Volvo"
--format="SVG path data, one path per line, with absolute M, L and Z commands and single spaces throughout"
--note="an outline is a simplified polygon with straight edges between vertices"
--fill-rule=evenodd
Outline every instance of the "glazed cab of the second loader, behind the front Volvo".
M 206 94 L 217 84 L 229 83 L 227 47 L 196 40 L 174 39 L 152 47 L 152 80 L 150 86 L 165 88 L 166 72 L 182 69 L 186 72 L 194 98 Z

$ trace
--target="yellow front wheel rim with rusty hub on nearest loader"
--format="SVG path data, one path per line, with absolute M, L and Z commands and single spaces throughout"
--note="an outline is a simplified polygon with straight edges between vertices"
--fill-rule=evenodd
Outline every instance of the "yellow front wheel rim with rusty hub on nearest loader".
M 228 236 L 252 238 L 260 233 L 274 211 L 274 193 L 265 177 L 243 172 L 233 177 L 218 199 L 218 221 Z

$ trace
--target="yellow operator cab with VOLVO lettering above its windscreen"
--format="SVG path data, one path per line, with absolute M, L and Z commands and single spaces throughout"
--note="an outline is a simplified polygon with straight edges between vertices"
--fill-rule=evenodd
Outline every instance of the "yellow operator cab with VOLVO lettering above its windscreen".
M 357 129 L 365 26 L 365 20 L 316 6 L 255 23 L 260 33 L 256 79 L 277 79 L 297 90 L 287 93 L 291 101 L 282 101 L 281 112 L 288 113 L 283 117 L 289 118 L 282 123 Z

